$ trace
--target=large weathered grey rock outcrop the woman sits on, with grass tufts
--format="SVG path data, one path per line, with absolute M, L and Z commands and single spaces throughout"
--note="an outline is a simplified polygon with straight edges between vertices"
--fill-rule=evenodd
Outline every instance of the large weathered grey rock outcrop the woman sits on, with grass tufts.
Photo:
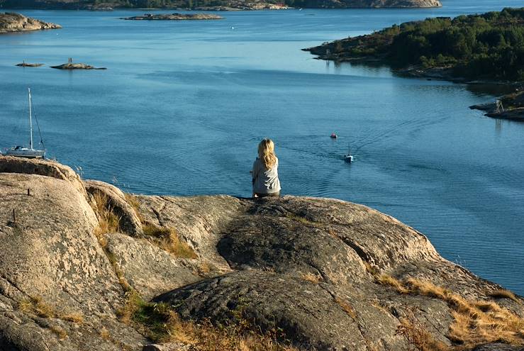
M 366 206 L 125 194 L 5 156 L 0 198 L 1 350 L 524 345 L 521 296 Z

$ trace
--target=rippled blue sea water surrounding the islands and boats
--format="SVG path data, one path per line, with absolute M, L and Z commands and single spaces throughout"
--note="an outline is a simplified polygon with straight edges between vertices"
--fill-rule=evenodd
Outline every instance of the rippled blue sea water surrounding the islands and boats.
M 85 178 L 141 194 L 250 196 L 257 143 L 269 137 L 283 194 L 377 208 L 448 260 L 524 294 L 524 123 L 469 110 L 494 99 L 484 87 L 301 51 L 394 23 L 522 6 L 442 3 L 173 22 L 118 19 L 143 11 L 20 11 L 64 28 L 0 35 L 0 146 L 26 142 L 31 87 L 48 154 Z M 48 67 L 67 57 L 108 69 Z M 14 66 L 22 60 L 46 67 Z M 348 145 L 352 165 L 341 159 Z

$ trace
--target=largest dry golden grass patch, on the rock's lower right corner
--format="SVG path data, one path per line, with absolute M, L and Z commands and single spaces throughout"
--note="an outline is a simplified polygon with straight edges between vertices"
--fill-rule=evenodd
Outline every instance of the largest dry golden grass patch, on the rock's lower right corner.
M 452 308 L 454 318 L 448 338 L 457 342 L 458 348 L 496 341 L 524 345 L 524 319 L 493 301 L 468 301 L 450 289 L 418 279 L 399 282 L 382 274 L 377 280 L 401 294 L 424 295 L 445 301 Z

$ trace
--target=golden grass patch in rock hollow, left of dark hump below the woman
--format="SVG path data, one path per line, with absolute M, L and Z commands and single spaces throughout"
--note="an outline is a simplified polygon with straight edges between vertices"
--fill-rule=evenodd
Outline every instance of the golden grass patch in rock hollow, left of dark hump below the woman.
M 196 258 L 196 253 L 189 245 L 184 243 L 173 228 L 158 227 L 150 223 L 143 225 L 145 238 L 150 243 L 157 245 L 162 250 L 172 253 L 177 257 Z

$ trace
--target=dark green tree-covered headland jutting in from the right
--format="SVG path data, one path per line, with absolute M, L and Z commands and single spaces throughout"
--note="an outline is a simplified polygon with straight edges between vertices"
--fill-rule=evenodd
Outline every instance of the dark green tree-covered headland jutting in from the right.
M 427 18 L 306 50 L 327 60 L 445 67 L 455 77 L 524 82 L 524 8 Z

